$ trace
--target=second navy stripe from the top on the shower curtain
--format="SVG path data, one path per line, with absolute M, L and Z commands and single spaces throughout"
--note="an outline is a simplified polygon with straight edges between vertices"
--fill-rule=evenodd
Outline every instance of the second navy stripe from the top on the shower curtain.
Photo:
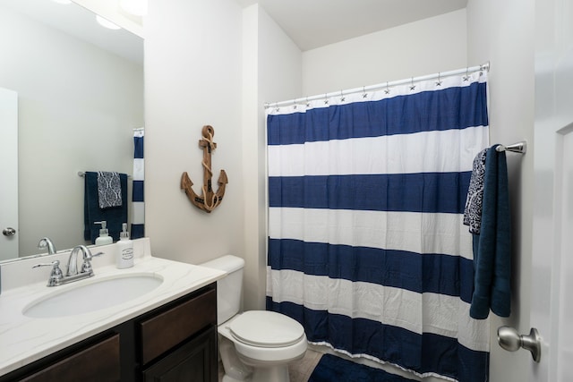
M 463 214 L 471 175 L 269 176 L 269 207 Z

